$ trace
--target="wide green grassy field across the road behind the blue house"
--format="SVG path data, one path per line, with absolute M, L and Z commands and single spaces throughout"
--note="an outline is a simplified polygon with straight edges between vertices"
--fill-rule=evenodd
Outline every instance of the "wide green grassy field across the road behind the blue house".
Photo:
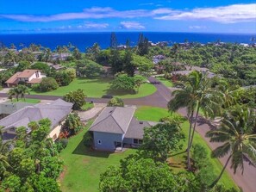
M 45 93 L 30 91 L 32 95 L 45 95 L 45 96 L 64 96 L 71 90 L 84 90 L 88 97 L 100 98 L 103 95 L 110 94 L 121 98 L 137 98 L 152 95 L 156 88 L 153 84 L 142 84 L 137 94 L 128 94 L 123 92 L 109 92 L 110 78 L 76 78 L 68 86 L 59 87 L 57 90 L 48 91 Z

